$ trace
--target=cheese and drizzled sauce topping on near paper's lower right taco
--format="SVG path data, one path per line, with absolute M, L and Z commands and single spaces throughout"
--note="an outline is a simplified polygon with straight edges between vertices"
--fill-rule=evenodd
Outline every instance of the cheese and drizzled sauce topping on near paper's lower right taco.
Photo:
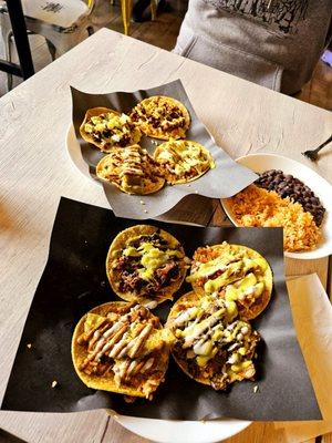
M 187 359 L 195 359 L 201 371 L 219 350 L 225 350 L 222 372 L 230 381 L 253 368 L 252 354 L 258 341 L 248 322 L 234 320 L 237 313 L 232 301 L 221 300 L 217 295 L 206 296 L 196 306 L 180 311 L 170 323 L 187 351 Z

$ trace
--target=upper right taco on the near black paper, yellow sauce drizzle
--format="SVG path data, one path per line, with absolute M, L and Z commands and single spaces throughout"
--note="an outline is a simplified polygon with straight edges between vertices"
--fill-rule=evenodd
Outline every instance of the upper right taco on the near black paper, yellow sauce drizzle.
M 273 286 L 268 261 L 242 245 L 205 246 L 194 254 L 187 277 L 198 295 L 217 292 L 237 303 L 239 317 L 250 320 L 268 306 Z

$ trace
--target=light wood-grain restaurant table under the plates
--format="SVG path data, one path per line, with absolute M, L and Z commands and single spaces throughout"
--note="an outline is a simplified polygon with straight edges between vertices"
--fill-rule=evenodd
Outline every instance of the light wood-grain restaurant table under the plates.
M 60 196 L 107 207 L 102 187 L 83 177 L 66 153 L 69 86 L 106 93 L 176 79 L 183 81 L 217 144 L 234 158 L 278 153 L 331 179 L 329 150 L 317 164 L 301 155 L 332 133 L 328 111 L 106 29 L 90 37 L 0 99 L 0 401 L 46 262 Z M 183 214 L 194 223 L 228 223 L 218 202 L 191 202 Z M 289 277 L 317 272 L 331 290 L 329 258 L 287 259 L 286 265 Z M 0 411 L 1 427 L 33 443 L 146 441 L 121 427 L 103 410 L 70 414 Z M 322 441 L 332 442 L 332 436 Z M 273 423 L 255 423 L 227 442 L 282 442 L 282 430 L 274 430 Z

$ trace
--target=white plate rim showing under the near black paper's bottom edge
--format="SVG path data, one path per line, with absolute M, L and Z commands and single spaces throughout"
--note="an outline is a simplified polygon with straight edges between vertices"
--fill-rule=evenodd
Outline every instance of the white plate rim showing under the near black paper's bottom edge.
M 251 424 L 242 420 L 195 422 L 139 419 L 111 411 L 110 414 L 128 431 L 157 443 L 215 443 L 238 434 Z

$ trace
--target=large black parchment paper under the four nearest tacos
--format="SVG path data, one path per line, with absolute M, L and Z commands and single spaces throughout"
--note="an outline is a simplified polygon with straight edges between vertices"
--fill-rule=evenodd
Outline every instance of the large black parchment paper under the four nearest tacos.
M 86 388 L 72 365 L 72 332 L 86 311 L 117 299 L 106 278 L 105 257 L 114 236 L 136 222 L 62 198 L 48 264 L 25 322 L 2 409 L 70 412 L 110 408 L 126 415 L 177 420 L 321 419 L 292 324 L 283 276 L 282 230 L 149 223 L 175 235 L 189 257 L 200 245 L 228 240 L 252 247 L 268 259 L 274 290 L 267 310 L 253 321 L 262 337 L 257 381 L 235 383 L 226 393 L 216 392 L 189 379 L 170 359 L 166 381 L 152 402 L 139 399 L 127 404 L 122 395 Z M 189 289 L 184 285 L 176 298 Z M 163 303 L 155 313 L 164 321 L 169 307 L 170 302 Z M 59 383 L 54 389 L 53 380 Z M 259 387 L 257 393 L 255 385 Z

